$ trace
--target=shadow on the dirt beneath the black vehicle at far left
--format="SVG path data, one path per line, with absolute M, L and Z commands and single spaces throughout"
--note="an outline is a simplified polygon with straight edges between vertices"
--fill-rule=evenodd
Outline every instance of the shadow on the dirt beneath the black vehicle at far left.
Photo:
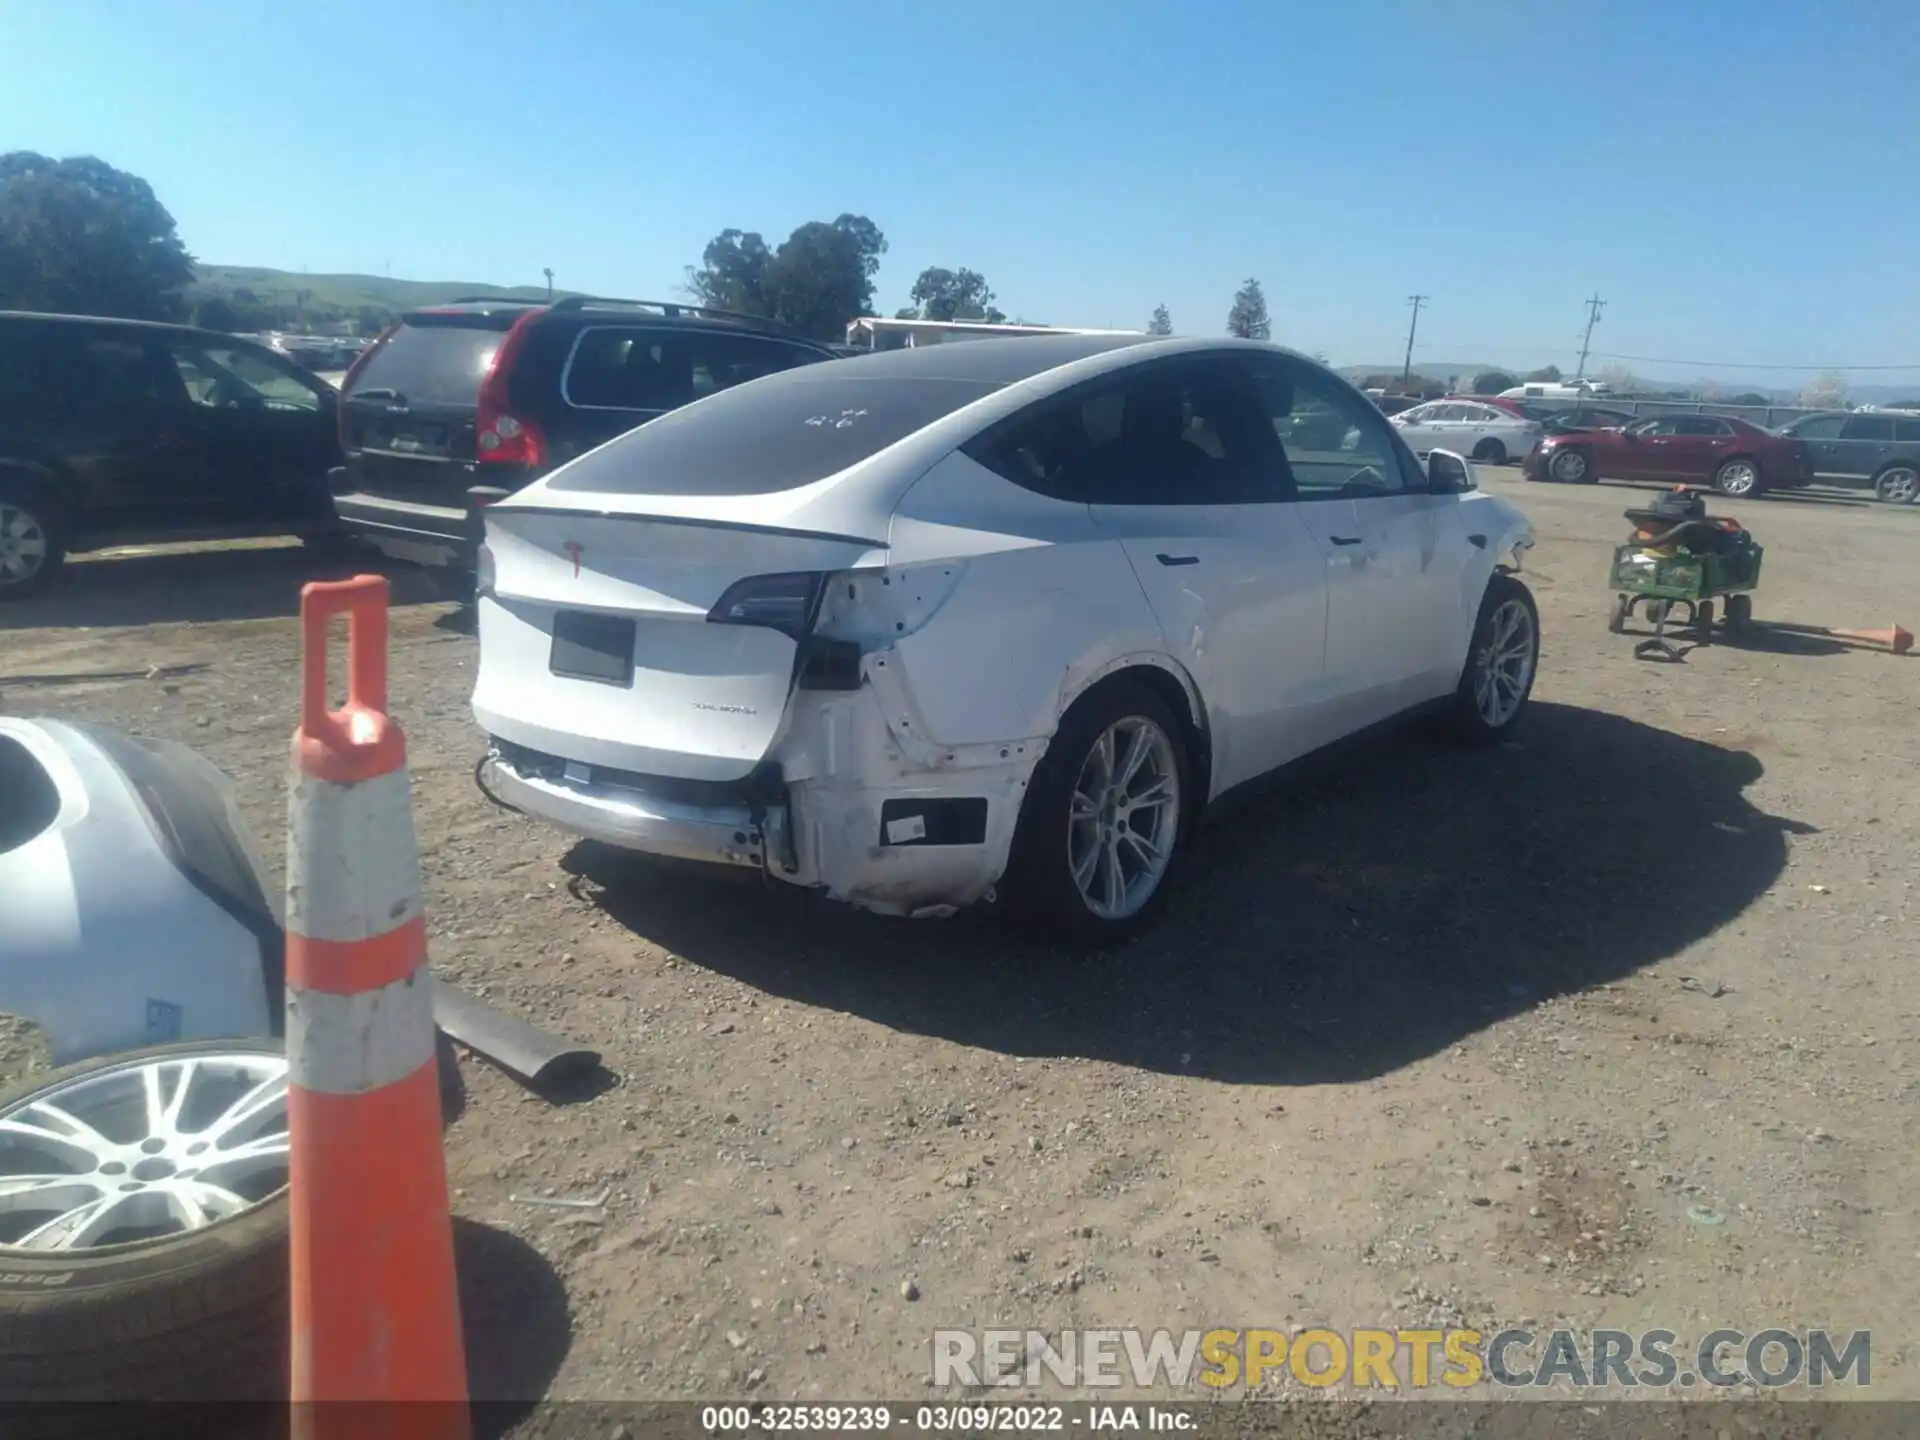
M 267 620 L 300 614 L 309 580 L 384 574 L 396 605 L 442 599 L 434 576 L 376 553 L 321 557 L 303 545 L 109 555 L 75 561 L 40 595 L 0 607 L 0 630 Z

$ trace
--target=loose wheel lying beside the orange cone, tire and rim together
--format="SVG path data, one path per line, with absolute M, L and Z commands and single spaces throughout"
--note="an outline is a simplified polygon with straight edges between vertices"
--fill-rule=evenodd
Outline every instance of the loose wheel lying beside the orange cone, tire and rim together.
M 67 1066 L 0 1121 L 0 1398 L 284 1400 L 276 1043 Z

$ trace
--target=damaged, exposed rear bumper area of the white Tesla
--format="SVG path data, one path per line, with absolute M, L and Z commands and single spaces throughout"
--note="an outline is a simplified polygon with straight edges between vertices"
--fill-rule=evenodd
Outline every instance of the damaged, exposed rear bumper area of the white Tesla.
M 1046 741 L 935 745 L 910 720 L 889 724 L 902 707 L 881 691 L 795 691 L 768 760 L 726 785 L 568 762 L 501 737 L 511 722 L 493 716 L 484 781 L 501 803 L 607 845 L 760 868 L 877 914 L 947 916 L 1006 870 Z

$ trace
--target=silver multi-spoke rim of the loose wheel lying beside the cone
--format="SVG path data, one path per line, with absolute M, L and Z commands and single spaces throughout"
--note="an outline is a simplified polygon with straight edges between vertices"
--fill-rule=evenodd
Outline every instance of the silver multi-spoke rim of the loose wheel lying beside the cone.
M 0 1250 L 202 1231 L 286 1187 L 286 1058 L 209 1052 L 75 1075 L 0 1110 Z

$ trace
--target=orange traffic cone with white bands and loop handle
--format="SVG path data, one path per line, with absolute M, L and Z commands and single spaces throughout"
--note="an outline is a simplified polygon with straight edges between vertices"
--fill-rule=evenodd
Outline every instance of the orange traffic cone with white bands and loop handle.
M 294 1434 L 457 1440 L 470 1432 L 467 1357 L 407 741 L 386 716 L 386 605 L 378 576 L 300 593 L 286 851 Z M 348 703 L 328 710 L 336 614 Z

